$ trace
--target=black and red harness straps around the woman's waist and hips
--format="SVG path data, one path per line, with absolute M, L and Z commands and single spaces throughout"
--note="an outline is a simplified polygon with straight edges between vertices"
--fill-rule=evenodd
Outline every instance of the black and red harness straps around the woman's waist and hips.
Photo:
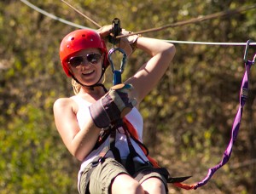
M 115 137 L 116 133 L 119 127 L 122 127 L 125 131 L 125 136 L 127 140 L 127 144 L 129 147 L 129 155 L 125 159 L 125 163 L 121 160 L 119 149 L 115 146 Z M 143 145 L 143 143 L 138 140 L 138 135 L 136 129 L 132 126 L 132 124 L 128 121 L 128 119 L 123 118 L 117 121 L 114 125 L 109 127 L 108 129 L 104 129 L 102 131 L 102 134 L 99 136 L 99 140 L 97 141 L 94 149 L 97 149 L 102 143 L 107 140 L 109 137 L 109 145 L 106 145 L 101 153 L 99 154 L 98 157 L 96 157 L 93 162 L 91 163 L 91 167 L 86 175 L 86 185 L 89 184 L 90 181 L 90 174 L 93 172 L 93 170 L 96 168 L 96 166 L 99 163 L 104 163 L 106 159 L 106 155 L 108 151 L 112 151 L 113 157 L 116 161 L 119 163 L 122 163 L 125 166 L 125 169 L 127 172 L 131 175 L 136 173 L 136 163 L 134 158 L 139 157 L 145 165 L 152 166 L 152 172 L 158 172 L 162 174 L 166 178 L 167 183 L 180 183 L 183 182 L 184 180 L 189 179 L 191 176 L 186 176 L 186 177 L 171 177 L 169 172 L 167 171 L 166 168 L 160 168 L 158 163 L 152 158 L 149 157 L 148 155 L 148 148 L 146 145 Z M 148 161 L 145 161 L 143 157 L 141 157 L 139 154 L 137 154 L 137 151 L 134 149 L 133 145 L 131 144 L 131 140 L 134 140 L 137 145 L 140 146 L 140 148 L 143 150 L 144 154 L 146 157 L 148 157 Z M 137 180 L 141 180 L 143 178 L 143 172 L 140 174 L 137 174 Z

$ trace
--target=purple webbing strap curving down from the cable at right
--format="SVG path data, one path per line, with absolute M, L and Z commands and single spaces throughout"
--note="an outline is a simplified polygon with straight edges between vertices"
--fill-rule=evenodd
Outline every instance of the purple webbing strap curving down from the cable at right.
M 236 113 L 236 118 L 235 118 L 235 121 L 233 123 L 230 143 L 227 146 L 226 150 L 224 151 L 224 155 L 223 155 L 222 160 L 220 161 L 220 163 L 218 163 L 218 165 L 216 165 L 213 168 L 209 168 L 208 174 L 205 177 L 205 179 L 201 180 L 201 182 L 198 182 L 194 186 L 194 189 L 197 189 L 198 187 L 200 187 L 202 185 L 206 185 L 208 180 L 210 180 L 212 178 L 212 175 L 218 170 L 218 168 L 221 168 L 222 166 L 224 166 L 224 164 L 227 163 L 230 159 L 231 152 L 232 152 L 232 146 L 236 142 L 236 136 L 238 134 L 240 123 L 241 123 L 242 109 L 243 109 L 243 106 L 245 105 L 246 100 L 247 100 L 248 74 L 249 74 L 250 68 L 253 65 L 253 63 L 254 63 L 254 61 L 251 61 L 251 60 L 247 60 L 246 63 L 245 63 L 246 70 L 245 70 L 245 73 L 244 73 L 244 76 L 243 76 L 242 82 L 241 82 L 240 107 L 239 107 L 239 109 Z

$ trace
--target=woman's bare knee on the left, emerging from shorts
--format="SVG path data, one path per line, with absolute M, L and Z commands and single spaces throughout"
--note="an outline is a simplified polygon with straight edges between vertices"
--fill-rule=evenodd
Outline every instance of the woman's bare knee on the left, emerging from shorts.
M 128 174 L 119 174 L 114 180 L 111 186 L 112 194 L 144 194 L 143 186 L 140 185 L 137 180 L 131 178 Z

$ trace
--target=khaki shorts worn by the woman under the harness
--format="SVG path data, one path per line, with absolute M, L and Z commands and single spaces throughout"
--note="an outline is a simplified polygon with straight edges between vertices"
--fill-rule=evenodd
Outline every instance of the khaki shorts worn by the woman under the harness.
M 118 163 L 113 158 L 106 158 L 104 163 L 98 163 L 96 168 L 90 174 L 90 183 L 86 185 L 86 178 L 89 169 L 91 168 L 92 164 L 90 163 L 85 169 L 84 173 L 81 176 L 81 181 L 79 185 L 80 193 L 83 194 L 108 194 L 110 193 L 110 188 L 113 183 L 115 177 L 119 174 L 128 174 L 125 167 Z M 163 181 L 166 185 L 167 191 L 167 183 L 166 179 L 163 175 L 154 172 L 154 168 L 149 165 L 139 164 L 136 165 L 136 174 L 132 177 L 136 179 L 139 183 L 143 183 L 143 181 L 148 180 L 149 178 L 156 177 Z M 143 174 L 140 174 L 142 172 Z

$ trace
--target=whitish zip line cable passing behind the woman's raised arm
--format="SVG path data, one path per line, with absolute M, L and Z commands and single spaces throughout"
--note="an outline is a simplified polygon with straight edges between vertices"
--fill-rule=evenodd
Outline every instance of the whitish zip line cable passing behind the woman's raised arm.
M 40 14 L 44 14 L 46 15 L 47 17 L 53 19 L 53 20 L 58 20 L 64 24 L 67 24 L 69 26 L 74 26 L 74 27 L 77 27 L 77 28 L 80 28 L 80 29 L 91 29 L 89 27 L 86 27 L 86 26 L 80 26 L 78 24 L 75 24 L 71 21 L 68 21 L 68 20 L 63 20 L 57 16 L 55 16 L 54 14 L 49 14 L 48 12 L 44 11 L 43 9 L 39 9 L 37 6 L 33 5 L 32 3 L 29 3 L 28 1 L 26 0 L 20 0 L 21 2 L 25 3 L 28 7 L 38 11 Z M 62 1 L 62 0 L 61 0 Z M 255 7 L 255 5 L 254 5 Z M 95 30 L 95 29 L 91 29 L 91 30 Z M 163 40 L 163 41 L 166 41 L 167 43 L 184 43 L 184 44 L 204 44 L 204 45 L 223 45 L 223 46 L 245 46 L 247 43 L 212 43 L 212 42 L 195 42 L 195 41 L 176 41 L 176 40 Z M 250 43 L 250 45 L 256 45 L 256 43 Z

